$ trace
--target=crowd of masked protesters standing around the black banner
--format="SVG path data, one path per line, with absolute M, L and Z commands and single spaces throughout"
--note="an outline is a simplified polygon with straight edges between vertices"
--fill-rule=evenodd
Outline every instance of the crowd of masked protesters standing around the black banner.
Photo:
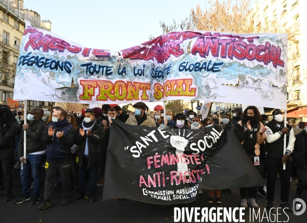
M 51 206 L 52 191 L 62 185 L 62 205 L 68 205 L 71 192 L 76 201 L 87 196 L 90 203 L 95 202 L 96 186 L 104 184 L 104 168 L 113 120 L 129 125 L 151 126 L 170 129 L 201 129 L 217 124 L 226 124 L 234 128 L 238 140 L 242 143 L 251 162 L 265 179 L 267 185 L 261 187 L 240 188 L 241 207 L 258 208 L 256 196 L 268 199 L 267 208 L 274 207 L 276 176 L 280 177 L 280 207 L 292 212 L 289 202 L 290 181 L 297 175 L 298 183 L 295 197 L 300 198 L 307 188 L 307 123 L 284 126 L 283 113 L 275 109 L 273 119 L 260 115 L 255 106 L 244 111 L 235 108 L 231 114 L 201 119 L 193 110 L 186 114 L 174 115 L 171 110 L 155 111 L 149 117 L 148 107 L 143 102 L 133 105 L 135 112 L 129 116 L 120 106 L 111 107 L 104 104 L 102 108 L 82 109 L 81 112 L 66 111 L 61 107 L 46 110 L 33 108 L 24 116 L 23 107 L 10 109 L 7 105 L 0 107 L 0 190 L 4 190 L 4 201 L 13 199 L 12 170 L 20 168 L 22 190 L 15 204 L 30 200 L 38 204 L 38 209 Z M 27 124 L 24 124 L 24 120 Z M 301 131 L 297 131 L 298 127 Z M 26 158 L 24 157 L 24 132 L 26 131 Z M 296 135 L 295 135 L 296 134 Z M 286 138 L 284 138 L 286 135 Z M 286 152 L 283 141 L 286 139 Z M 16 159 L 16 162 L 15 162 Z M 259 161 L 256 164 L 256 161 Z M 283 169 L 283 164 L 286 169 Z M 41 178 L 42 165 L 46 170 L 46 179 Z M 293 169 L 296 169 L 294 174 Z M 97 173 L 100 175 L 96 185 Z M 43 196 L 40 195 L 42 181 L 45 180 Z M 86 181 L 89 185 L 86 190 Z M 32 195 L 30 190 L 33 189 Z M 87 192 L 86 192 L 87 191 Z M 232 193 L 230 189 L 225 189 Z M 198 190 L 203 194 L 202 189 Z M 208 203 L 213 203 L 214 191 L 208 190 Z M 120 201 L 116 198 L 115 201 Z M 221 190 L 215 190 L 215 202 L 222 204 Z

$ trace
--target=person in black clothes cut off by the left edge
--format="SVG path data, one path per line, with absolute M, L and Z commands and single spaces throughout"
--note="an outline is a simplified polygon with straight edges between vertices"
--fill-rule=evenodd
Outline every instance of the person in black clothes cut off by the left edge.
M 14 139 L 18 131 L 19 126 L 12 111 L 0 104 L 0 161 L 5 176 L 5 202 L 13 199 L 12 156 Z

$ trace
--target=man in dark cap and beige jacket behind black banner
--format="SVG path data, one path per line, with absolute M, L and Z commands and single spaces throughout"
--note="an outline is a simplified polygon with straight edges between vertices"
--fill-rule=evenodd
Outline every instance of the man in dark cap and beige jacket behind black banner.
M 155 121 L 145 114 L 147 106 L 144 102 L 137 102 L 133 107 L 136 108 L 135 115 L 130 116 L 126 121 L 126 124 L 156 127 Z

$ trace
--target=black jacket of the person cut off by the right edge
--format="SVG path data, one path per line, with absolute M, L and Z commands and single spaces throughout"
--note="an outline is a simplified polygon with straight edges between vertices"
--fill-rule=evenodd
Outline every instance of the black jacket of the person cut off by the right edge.
M 294 160 L 294 166 L 298 168 L 306 168 L 306 152 L 307 152 L 307 133 L 303 129 L 300 133 L 295 135 L 294 149 L 291 157 Z

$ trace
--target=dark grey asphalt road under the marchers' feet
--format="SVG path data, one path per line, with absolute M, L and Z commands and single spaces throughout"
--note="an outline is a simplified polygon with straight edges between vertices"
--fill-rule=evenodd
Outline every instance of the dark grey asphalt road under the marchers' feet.
M 43 179 L 45 179 L 45 170 L 42 171 Z M 294 199 L 295 183 L 296 179 L 291 183 L 290 201 Z M 99 190 L 97 186 L 96 190 Z M 232 194 L 222 192 L 222 205 L 208 204 L 207 203 L 207 190 L 204 190 L 204 194 L 198 195 L 198 198 L 189 204 L 184 205 L 153 205 L 138 202 L 135 200 L 122 200 L 121 202 L 114 202 L 113 199 L 106 200 L 101 203 L 102 193 L 96 192 L 96 203 L 90 204 L 88 199 L 81 199 L 77 202 L 71 202 L 67 206 L 61 206 L 61 188 L 56 188 L 53 191 L 52 206 L 46 210 L 37 210 L 38 205 L 30 205 L 30 202 L 24 202 L 19 205 L 15 205 L 13 200 L 19 197 L 21 194 L 21 182 L 19 176 L 19 170 L 15 170 L 14 184 L 13 184 L 13 196 L 14 199 L 11 202 L 3 201 L 3 191 L 0 191 L 0 223 L 8 222 L 173 222 L 174 221 L 174 207 L 238 207 L 240 202 L 239 190 L 233 189 Z M 276 182 L 276 204 L 279 206 L 279 193 L 280 193 L 280 181 Z M 41 192 L 41 195 L 43 191 Z M 74 194 L 73 194 L 74 195 Z M 307 193 L 304 192 L 302 199 L 307 201 Z M 266 199 L 257 196 L 258 205 L 260 207 L 260 213 L 264 212 L 266 206 Z M 307 203 L 307 202 L 306 202 Z M 245 222 L 250 222 L 249 209 L 245 210 Z M 303 223 L 307 219 L 307 211 L 300 216 L 295 216 L 293 213 L 287 212 L 289 215 L 289 221 L 291 223 Z M 262 222 L 272 222 L 276 213 L 271 213 L 271 221 L 266 218 Z M 185 219 L 186 220 L 186 219 Z M 278 215 L 278 221 L 287 221 L 288 216 L 285 214 Z M 185 221 L 187 222 L 187 220 Z M 192 221 L 194 222 L 194 220 Z M 259 220 L 254 219 L 254 222 Z

